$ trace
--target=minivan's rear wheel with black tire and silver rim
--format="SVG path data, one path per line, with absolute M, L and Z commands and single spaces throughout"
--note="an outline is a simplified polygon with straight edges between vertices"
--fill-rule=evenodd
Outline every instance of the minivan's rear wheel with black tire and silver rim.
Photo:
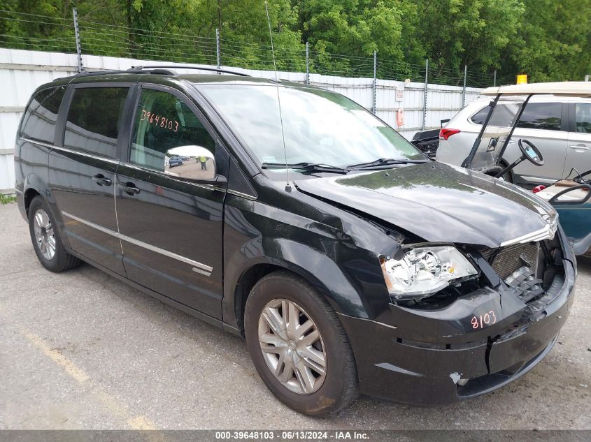
M 51 272 L 64 272 L 80 265 L 80 260 L 64 248 L 49 205 L 36 196 L 29 205 L 29 233 L 41 265 Z

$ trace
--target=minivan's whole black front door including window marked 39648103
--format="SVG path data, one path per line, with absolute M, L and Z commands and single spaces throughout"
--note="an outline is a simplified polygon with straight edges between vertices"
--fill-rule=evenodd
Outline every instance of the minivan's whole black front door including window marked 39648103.
M 187 145 L 209 149 L 227 175 L 228 158 L 203 121 L 177 91 L 141 87 L 117 173 L 117 214 L 129 279 L 221 318 L 225 188 L 164 175 L 165 161 L 189 161 L 166 152 Z

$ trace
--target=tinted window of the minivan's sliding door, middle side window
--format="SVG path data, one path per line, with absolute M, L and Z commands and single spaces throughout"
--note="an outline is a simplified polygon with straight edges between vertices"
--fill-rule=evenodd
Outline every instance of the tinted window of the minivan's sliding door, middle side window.
M 89 154 L 115 158 L 120 115 L 127 87 L 89 87 L 74 91 L 64 145 Z

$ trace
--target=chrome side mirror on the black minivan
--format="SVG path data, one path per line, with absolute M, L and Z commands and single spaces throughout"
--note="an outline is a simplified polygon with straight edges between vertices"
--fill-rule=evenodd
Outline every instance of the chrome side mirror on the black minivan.
M 164 175 L 192 181 L 215 181 L 215 157 L 206 147 L 178 146 L 164 155 Z

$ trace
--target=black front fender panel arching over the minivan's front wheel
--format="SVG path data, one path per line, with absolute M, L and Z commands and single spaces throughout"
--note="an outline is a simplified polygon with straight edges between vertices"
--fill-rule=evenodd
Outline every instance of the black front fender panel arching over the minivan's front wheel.
M 266 273 L 285 269 L 298 274 L 318 288 L 339 313 L 357 318 L 375 316 L 373 302 L 370 306 L 367 301 L 371 297 L 359 294 L 363 285 L 359 279 L 371 280 L 374 275 L 365 270 L 369 277 L 352 277 L 350 270 L 354 266 L 348 265 L 352 259 L 357 263 L 367 261 L 369 251 L 363 256 L 362 249 L 357 249 L 355 257 L 350 257 L 350 247 L 337 229 L 310 219 L 304 221 L 294 214 L 285 218 L 279 213 L 281 209 L 259 206 L 238 200 L 227 200 L 225 205 L 222 316 L 227 325 L 239 327 L 242 302 L 248 296 L 242 292 L 250 291 L 250 286 L 244 286 L 248 284 L 246 275 L 257 267 L 266 267 Z M 339 261 L 339 256 L 343 260 Z M 373 254 L 371 259 L 375 260 Z M 381 277 L 377 260 L 374 267 Z M 385 288 L 383 277 L 381 283 Z M 376 290 L 376 297 L 387 307 L 387 291 L 384 294 Z

